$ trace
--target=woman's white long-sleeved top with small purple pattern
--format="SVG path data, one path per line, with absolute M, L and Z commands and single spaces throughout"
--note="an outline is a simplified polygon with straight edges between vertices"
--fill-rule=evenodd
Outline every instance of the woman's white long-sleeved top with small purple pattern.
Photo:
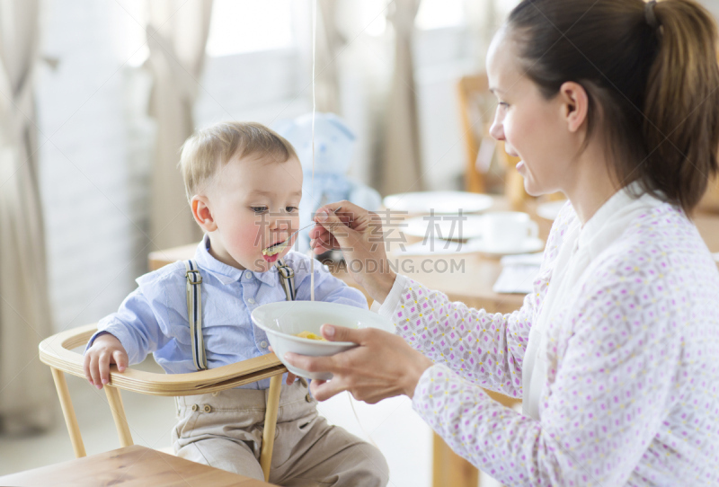
M 373 309 L 434 361 L 415 411 L 506 485 L 719 485 L 719 271 L 688 218 L 626 190 L 584 226 L 567 204 L 533 288 L 489 314 L 397 276 Z

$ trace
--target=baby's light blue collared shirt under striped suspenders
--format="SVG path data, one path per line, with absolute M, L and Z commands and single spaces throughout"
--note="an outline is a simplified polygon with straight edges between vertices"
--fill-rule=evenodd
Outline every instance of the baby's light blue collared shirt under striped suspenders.
M 267 272 L 239 270 L 217 261 L 208 252 L 205 235 L 195 252 L 202 275 L 202 338 L 209 368 L 222 367 L 266 353 L 269 341 L 250 319 L 253 309 L 287 299 L 276 268 Z M 310 298 L 310 259 L 290 251 L 283 259 L 295 271 L 297 300 Z M 98 332 L 110 332 L 128 352 L 130 364 L 153 352 L 155 361 L 168 374 L 195 372 L 192 362 L 190 323 L 187 318 L 185 265 L 182 261 L 149 272 L 137 279 L 138 288 L 120 305 L 117 313 L 102 318 Z M 315 261 L 315 300 L 367 309 L 367 299 L 355 288 L 335 278 Z M 270 379 L 242 385 L 267 389 Z

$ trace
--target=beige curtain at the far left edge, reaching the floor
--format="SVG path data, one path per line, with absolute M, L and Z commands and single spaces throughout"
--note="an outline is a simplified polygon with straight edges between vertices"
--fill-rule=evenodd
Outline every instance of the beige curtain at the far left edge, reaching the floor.
M 38 0 L 0 2 L 0 430 L 11 433 L 49 427 L 55 405 L 38 358 L 52 330 L 32 91 L 38 29 Z

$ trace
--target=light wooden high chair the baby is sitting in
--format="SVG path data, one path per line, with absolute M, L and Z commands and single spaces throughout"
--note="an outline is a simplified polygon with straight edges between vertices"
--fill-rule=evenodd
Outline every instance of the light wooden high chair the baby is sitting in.
M 83 355 L 73 349 L 84 347 L 95 331 L 97 331 L 97 324 L 88 324 L 66 332 L 59 332 L 40 342 L 40 360 L 49 365 L 52 372 L 63 416 L 65 416 L 67 431 L 70 434 L 70 441 L 75 450 L 75 456 L 78 458 L 85 456 L 84 444 L 77 425 L 73 403 L 67 390 L 65 374 L 85 378 Z M 125 417 L 125 408 L 120 397 L 120 389 L 150 395 L 195 395 L 224 391 L 237 385 L 250 384 L 270 377 L 260 454 L 260 465 L 265 481 L 269 479 L 282 374 L 287 372 L 287 368 L 282 365 L 274 353 L 190 374 L 155 374 L 130 367 L 120 373 L 114 365 L 110 369 L 110 383 L 104 385 L 104 389 L 115 427 L 118 430 L 121 447 L 129 447 L 133 443 L 128 420 Z

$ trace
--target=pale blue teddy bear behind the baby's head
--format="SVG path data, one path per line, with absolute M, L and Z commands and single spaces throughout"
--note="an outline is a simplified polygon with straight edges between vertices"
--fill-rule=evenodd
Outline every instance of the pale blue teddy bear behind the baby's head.
M 312 113 L 294 120 L 281 120 L 273 127 L 295 147 L 302 164 L 304 181 L 299 203 L 300 226 L 312 223 L 317 208 L 347 199 L 375 211 L 382 202 L 379 193 L 347 177 L 356 137 L 334 113 L 315 113 L 315 181 L 312 178 Z M 297 235 L 297 250 L 309 249 L 310 226 Z

